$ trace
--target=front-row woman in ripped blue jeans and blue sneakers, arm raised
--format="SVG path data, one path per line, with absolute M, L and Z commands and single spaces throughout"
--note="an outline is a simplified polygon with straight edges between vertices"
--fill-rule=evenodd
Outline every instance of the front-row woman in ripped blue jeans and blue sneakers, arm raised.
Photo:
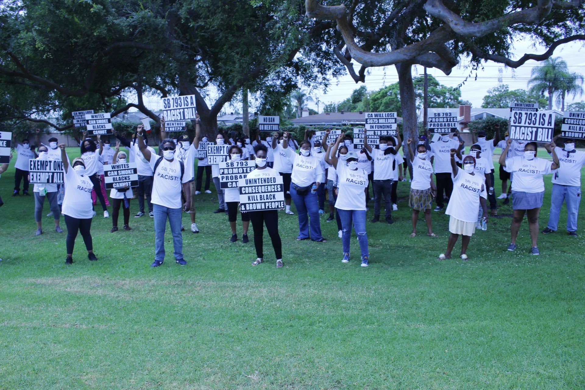
M 343 133 L 332 146 L 331 158 L 326 163 L 333 165 L 338 175 L 338 193 L 335 208 L 342 225 L 342 263 L 349 263 L 349 244 L 352 237 L 352 225 L 360 244 L 362 267 L 368 266 L 369 252 L 366 233 L 366 198 L 363 196 L 367 187 L 367 172 L 357 167 L 357 153 L 353 150 L 346 154 L 346 163 L 336 157 L 339 144 L 344 141 Z M 347 147 L 347 145 L 345 145 Z

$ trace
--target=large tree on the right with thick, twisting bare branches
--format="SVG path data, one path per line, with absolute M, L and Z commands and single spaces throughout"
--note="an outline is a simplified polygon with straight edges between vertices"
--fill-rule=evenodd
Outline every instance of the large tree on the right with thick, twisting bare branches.
M 585 39 L 583 1 L 352 0 L 321 5 L 305 0 L 305 6 L 309 18 L 336 21 L 339 34 L 327 32 L 324 44 L 356 82 L 364 81 L 368 67 L 395 65 L 408 136 L 417 132 L 412 65 L 450 74 L 459 58 L 467 56 L 472 70 L 488 60 L 517 68 L 549 58 L 560 44 Z M 510 49 L 519 37 L 548 50 L 513 60 Z M 362 64 L 357 73 L 352 60 Z

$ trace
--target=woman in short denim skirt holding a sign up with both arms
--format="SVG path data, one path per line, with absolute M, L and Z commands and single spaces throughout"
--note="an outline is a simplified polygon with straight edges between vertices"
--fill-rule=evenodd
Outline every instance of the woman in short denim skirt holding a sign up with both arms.
M 500 156 L 500 164 L 508 172 L 514 173 L 512 180 L 512 224 L 510 233 L 512 236 L 509 251 L 516 249 L 516 237 L 524 215 L 528 216 L 528 229 L 532 240 L 531 254 L 538 255 L 538 213 L 542 207 L 542 199 L 545 195 L 545 183 L 543 175 L 560 167 L 559 157 L 556 155 L 555 143 L 550 143 L 552 150 L 552 163 L 549 160 L 536 157 L 536 143 L 528 142 L 524 147 L 524 156 L 506 158 L 512 140 L 507 141 L 506 149 Z

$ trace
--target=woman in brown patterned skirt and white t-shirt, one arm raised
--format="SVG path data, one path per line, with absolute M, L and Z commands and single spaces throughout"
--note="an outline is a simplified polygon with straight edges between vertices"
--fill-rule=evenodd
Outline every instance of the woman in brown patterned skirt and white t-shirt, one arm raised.
M 418 215 L 422 211 L 425 213 L 426 235 L 436 237 L 431 222 L 431 204 L 437 192 L 433 181 L 433 165 L 426 158 L 425 144 L 417 144 L 416 153 L 412 149 L 412 144 L 414 144 L 412 139 L 408 139 L 408 158 L 410 158 L 412 167 L 412 182 L 408 198 L 408 206 L 412 208 L 412 233 L 410 236 L 417 236 Z

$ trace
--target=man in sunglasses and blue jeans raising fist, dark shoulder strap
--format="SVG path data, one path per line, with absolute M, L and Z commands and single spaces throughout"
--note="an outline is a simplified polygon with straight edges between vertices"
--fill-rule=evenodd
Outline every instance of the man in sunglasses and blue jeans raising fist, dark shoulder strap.
M 175 143 L 171 139 L 163 140 L 160 150 L 163 157 L 150 153 L 142 138 L 143 125 L 138 126 L 138 147 L 144 158 L 149 161 L 154 172 L 152 185 L 152 204 L 154 212 L 154 263 L 159 267 L 164 261 L 164 232 L 168 225 L 173 233 L 174 256 L 177 264 L 185 265 L 183 258 L 183 235 L 181 234 L 181 212 L 191 209 L 192 175 L 184 175 L 185 167 L 175 157 Z M 185 203 L 181 205 L 181 187 L 185 193 Z

